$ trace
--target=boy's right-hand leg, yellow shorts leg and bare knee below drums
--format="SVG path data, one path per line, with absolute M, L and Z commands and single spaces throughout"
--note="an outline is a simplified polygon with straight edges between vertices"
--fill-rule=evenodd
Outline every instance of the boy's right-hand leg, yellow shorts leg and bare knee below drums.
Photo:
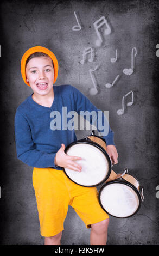
M 91 245 L 106 245 L 109 215 L 101 208 L 96 187 L 82 187 L 65 177 L 72 197 L 69 203 L 84 221 L 86 228 L 92 228 Z M 71 183 L 72 182 L 72 183 Z

